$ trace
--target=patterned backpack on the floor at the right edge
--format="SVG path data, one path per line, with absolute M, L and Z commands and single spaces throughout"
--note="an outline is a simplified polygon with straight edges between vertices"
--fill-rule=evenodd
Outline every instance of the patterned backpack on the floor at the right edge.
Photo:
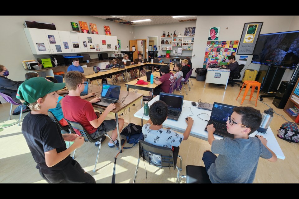
M 286 122 L 283 123 L 278 130 L 277 137 L 286 140 L 288 142 L 298 142 L 299 141 L 299 134 L 298 134 L 298 127 L 295 123 Z

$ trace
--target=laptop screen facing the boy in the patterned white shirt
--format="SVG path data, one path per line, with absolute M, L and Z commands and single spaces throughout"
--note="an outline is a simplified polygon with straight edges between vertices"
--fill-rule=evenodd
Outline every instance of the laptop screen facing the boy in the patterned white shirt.
M 160 100 L 167 104 L 169 110 L 182 111 L 184 95 L 160 92 Z

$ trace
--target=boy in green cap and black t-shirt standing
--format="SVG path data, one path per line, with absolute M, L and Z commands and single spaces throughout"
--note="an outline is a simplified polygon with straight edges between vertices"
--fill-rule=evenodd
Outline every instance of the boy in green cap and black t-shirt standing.
M 70 153 L 84 143 L 77 134 L 61 134 L 58 125 L 48 116 L 48 109 L 57 104 L 56 90 L 64 88 L 64 83 L 54 84 L 43 77 L 27 79 L 17 92 L 17 98 L 29 105 L 22 124 L 22 133 L 36 161 L 36 168 L 48 183 L 96 183 L 80 164 L 70 157 Z M 74 141 L 66 148 L 64 141 Z

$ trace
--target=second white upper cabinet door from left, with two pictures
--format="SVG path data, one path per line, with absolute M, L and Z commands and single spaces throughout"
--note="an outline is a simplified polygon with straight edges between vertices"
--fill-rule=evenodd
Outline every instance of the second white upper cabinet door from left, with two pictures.
M 48 38 L 50 51 L 52 54 L 64 53 L 63 46 L 60 41 L 58 30 L 46 30 L 46 37 Z

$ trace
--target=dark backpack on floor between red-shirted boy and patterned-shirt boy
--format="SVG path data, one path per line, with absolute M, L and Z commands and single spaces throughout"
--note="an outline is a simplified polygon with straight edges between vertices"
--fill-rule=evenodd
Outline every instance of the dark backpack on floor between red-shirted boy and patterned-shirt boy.
M 133 146 L 135 146 L 136 144 L 138 144 L 139 140 L 144 140 L 144 136 L 141 132 L 141 129 L 142 127 L 140 125 L 130 123 L 121 131 L 121 135 L 126 136 L 127 142 L 129 144 L 134 144 Z M 130 149 L 132 147 L 124 147 L 124 149 Z

